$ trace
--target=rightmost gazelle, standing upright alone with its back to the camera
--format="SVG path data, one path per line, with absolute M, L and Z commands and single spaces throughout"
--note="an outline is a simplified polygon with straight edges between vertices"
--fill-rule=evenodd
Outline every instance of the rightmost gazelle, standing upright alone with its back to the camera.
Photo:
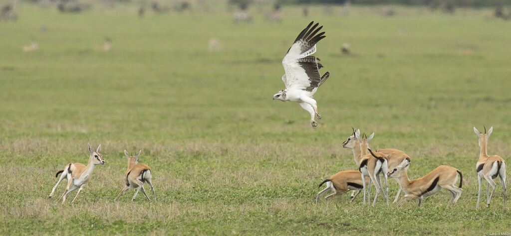
M 476 172 L 477 179 L 479 180 L 479 193 L 477 194 L 477 205 L 476 209 L 479 208 L 479 198 L 481 197 L 481 185 L 482 179 L 486 180 L 486 204 L 490 206 L 490 201 L 492 200 L 493 193 L 495 193 L 496 183 L 493 181 L 494 178 L 500 176 L 500 181 L 502 182 L 502 188 L 504 190 L 504 207 L 506 204 L 506 162 L 498 155 L 488 155 L 486 153 L 486 148 L 488 145 L 488 138 L 490 138 L 490 134 L 493 132 L 493 126 L 488 130 L 488 134 L 486 134 L 486 127 L 484 127 L 484 134 L 481 134 L 474 127 L 474 132 L 477 135 L 477 139 L 479 140 L 479 147 L 481 147 L 481 152 L 479 154 L 479 160 L 477 160 L 476 164 Z M 492 187 L 492 194 L 490 194 L 490 186 Z

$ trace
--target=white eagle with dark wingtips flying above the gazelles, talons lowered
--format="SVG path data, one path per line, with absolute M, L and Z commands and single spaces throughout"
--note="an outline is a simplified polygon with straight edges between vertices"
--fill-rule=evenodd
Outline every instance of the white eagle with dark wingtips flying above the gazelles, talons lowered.
M 321 115 L 313 98 L 314 93 L 327 80 L 330 73 L 326 72 L 321 76 L 319 69 L 323 65 L 318 63 L 319 58 L 311 56 L 316 52 L 316 43 L 327 37 L 324 36 L 324 32 L 317 34 L 323 28 L 322 25 L 318 27 L 319 23 L 313 24 L 314 21 L 310 22 L 300 32 L 282 60 L 285 71 L 282 81 L 286 89 L 278 91 L 273 95 L 273 99 L 299 102 L 300 106 L 311 114 L 312 128 L 316 128 L 318 122 L 314 120 L 314 116 L 321 119 Z

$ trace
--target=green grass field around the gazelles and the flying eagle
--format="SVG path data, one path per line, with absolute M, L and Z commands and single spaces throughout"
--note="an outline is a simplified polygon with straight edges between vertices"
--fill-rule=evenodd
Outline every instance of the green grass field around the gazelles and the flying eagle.
M 321 9 L 308 18 L 284 9 L 280 24 L 253 9 L 253 24 L 233 24 L 222 11 L 138 18 L 129 6 L 62 14 L 21 5 L 16 22 L 0 22 L 0 234 L 509 232 L 500 180 L 491 206 L 483 193 L 475 211 L 472 126 L 494 126 L 489 154 L 509 160 L 511 23 L 489 10 Z M 271 99 L 284 89 L 282 58 L 311 20 L 327 32 L 315 56 L 331 73 L 315 96 L 316 130 L 297 103 Z M 94 51 L 104 37 L 113 49 Z M 208 51 L 210 38 L 224 50 Z M 24 53 L 31 39 L 39 49 Z M 352 55 L 341 55 L 344 42 Z M 375 207 L 349 194 L 314 204 L 322 180 L 357 169 L 340 145 L 351 126 L 376 133 L 372 148 L 410 155 L 411 178 L 461 170 L 457 205 L 447 206 L 447 190 L 421 208 L 387 206 L 381 195 Z M 48 199 L 55 172 L 86 164 L 88 142 L 103 145 L 106 164 L 75 203 L 76 191 L 56 205 L 66 182 Z M 133 190 L 113 201 L 124 149 L 143 150 L 156 203 L 142 194 L 132 203 Z M 391 199 L 396 191 L 390 180 Z

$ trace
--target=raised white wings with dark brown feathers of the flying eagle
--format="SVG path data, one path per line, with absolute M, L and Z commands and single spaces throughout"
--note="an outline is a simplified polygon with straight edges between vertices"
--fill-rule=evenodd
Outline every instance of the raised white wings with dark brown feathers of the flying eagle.
M 310 56 L 316 52 L 316 43 L 327 37 L 324 36 L 324 32 L 317 34 L 323 27 L 318 28 L 319 23 L 312 26 L 313 23 L 314 21 L 309 23 L 307 28 L 300 32 L 282 60 L 286 72 L 282 76 L 282 81 L 286 84 L 286 89 L 301 89 L 312 92 L 323 84 L 330 75 L 327 72 L 321 76 L 319 69 L 323 66 L 318 63 L 319 58 Z

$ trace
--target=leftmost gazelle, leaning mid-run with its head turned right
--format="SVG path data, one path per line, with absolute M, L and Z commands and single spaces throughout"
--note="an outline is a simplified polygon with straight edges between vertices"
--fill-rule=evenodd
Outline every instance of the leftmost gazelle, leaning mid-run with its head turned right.
M 90 175 L 92 175 L 92 171 L 94 170 L 96 165 L 104 165 L 105 164 L 105 160 L 103 160 L 103 155 L 100 153 L 101 144 L 98 146 L 98 148 L 96 148 L 96 151 L 94 151 L 92 148 L 90 148 L 90 144 L 88 146 L 89 146 L 90 156 L 89 156 L 89 162 L 87 163 L 87 166 L 85 166 L 81 163 L 70 163 L 70 164 L 67 164 L 63 170 L 57 171 L 57 173 L 55 174 L 55 177 L 58 177 L 60 173 L 62 173 L 62 175 L 60 176 L 59 181 L 57 181 L 57 184 L 55 185 L 55 187 L 53 187 L 52 193 L 50 193 L 50 196 L 48 196 L 49 198 L 52 197 L 52 195 L 55 192 L 55 189 L 57 188 L 59 183 L 63 179 L 66 179 L 67 187 L 64 190 L 64 193 L 62 194 L 62 196 L 57 201 L 57 203 L 60 201 L 60 199 L 62 199 L 62 204 L 64 204 L 65 197 L 67 196 L 67 194 L 80 188 L 78 190 L 78 193 L 76 194 L 75 199 L 73 199 L 73 201 L 72 201 L 72 202 L 75 202 L 76 198 L 78 197 L 78 194 L 80 194 L 80 192 L 82 191 L 83 186 L 85 186 L 86 183 L 89 181 Z

